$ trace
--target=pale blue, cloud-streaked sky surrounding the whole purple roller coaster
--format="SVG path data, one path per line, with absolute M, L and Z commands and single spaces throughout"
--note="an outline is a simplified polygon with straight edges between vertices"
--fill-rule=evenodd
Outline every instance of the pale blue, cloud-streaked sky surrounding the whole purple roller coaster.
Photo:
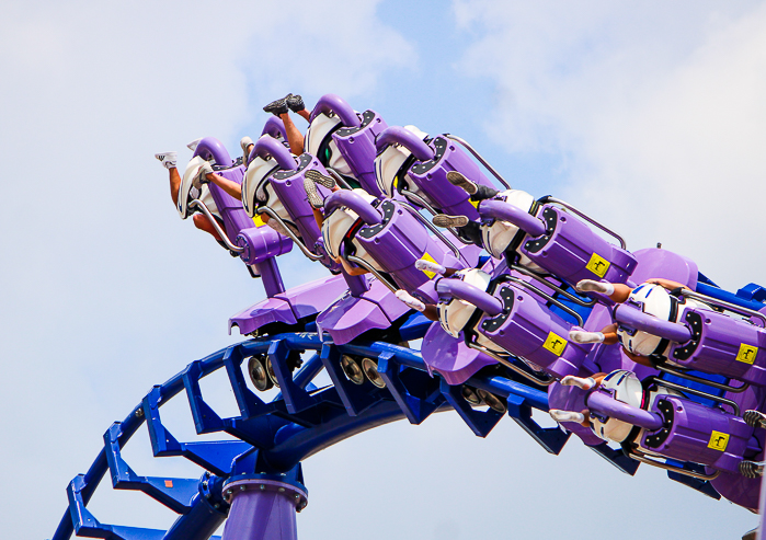
M 630 249 L 662 241 L 729 288 L 766 282 L 763 2 L 319 4 L 3 4 L 9 538 L 53 535 L 67 483 L 110 424 L 152 384 L 239 340 L 226 321 L 262 288 L 179 219 L 152 154 L 179 150 L 183 163 L 185 143 L 208 135 L 236 153 L 242 135 L 260 133 L 260 107 L 288 91 L 309 103 L 333 92 L 389 124 L 455 133 L 514 186 L 570 200 Z M 322 275 L 296 253 L 284 258 L 291 285 Z M 168 417 L 192 437 L 176 401 Z M 126 449 L 139 474 L 199 474 L 151 459 L 146 443 L 141 430 Z M 627 478 L 576 440 L 548 456 L 508 418 L 487 439 L 454 414 L 386 426 L 310 458 L 305 473 L 304 539 L 536 539 L 540 528 L 639 539 L 647 527 L 739 538 L 755 525 L 661 471 Z M 121 525 L 173 519 L 108 489 L 92 509 Z

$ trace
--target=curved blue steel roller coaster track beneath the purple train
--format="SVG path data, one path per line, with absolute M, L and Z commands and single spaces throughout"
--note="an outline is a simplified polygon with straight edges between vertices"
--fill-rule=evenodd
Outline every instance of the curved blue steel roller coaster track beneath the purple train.
M 414 338 L 416 336 L 411 336 Z M 300 369 L 287 368 L 290 352 L 313 352 Z M 247 383 L 243 360 L 267 357 L 281 393 L 261 399 Z M 355 384 L 344 375 L 341 358 L 371 358 L 386 382 L 381 389 L 369 381 Z M 221 417 L 205 401 L 199 381 L 225 369 L 240 414 Z M 315 378 L 325 370 L 332 384 L 316 388 Z M 502 370 L 479 372 L 466 384 L 502 398 L 507 414 L 549 452 L 558 453 L 569 435 L 558 427 L 544 428 L 531 410 L 548 410 L 545 390 L 514 380 Z M 179 441 L 162 424 L 161 406 L 185 392 L 198 434 L 224 432 L 237 440 Z M 104 447 L 84 474 L 67 487 L 69 507 L 54 540 L 80 537 L 124 540 L 207 539 L 226 519 L 224 482 L 239 474 L 300 474 L 300 462 L 353 435 L 407 418 L 420 424 L 439 411 L 456 411 L 478 436 L 487 436 L 503 413 L 471 407 L 461 387 L 432 377 L 420 353 L 384 342 L 334 345 L 317 333 L 281 334 L 245 341 L 195 360 L 162 384 L 155 386 L 122 421 L 104 434 Z M 179 456 L 204 469 L 199 479 L 140 476 L 123 459 L 121 449 L 147 424 L 156 457 Z M 608 452 L 599 453 L 607 459 Z M 618 464 L 619 467 L 619 464 Z M 625 470 L 625 469 L 624 469 Z M 169 507 L 179 518 L 168 530 L 150 530 L 102 524 L 87 508 L 99 482 L 108 472 L 114 489 L 141 491 Z M 628 471 L 631 472 L 631 471 Z

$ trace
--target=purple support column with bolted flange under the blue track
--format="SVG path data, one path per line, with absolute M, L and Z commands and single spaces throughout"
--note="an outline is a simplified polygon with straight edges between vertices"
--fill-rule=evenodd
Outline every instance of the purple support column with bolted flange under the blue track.
M 297 540 L 295 514 L 308 504 L 302 484 L 248 474 L 227 482 L 224 496 L 231 505 L 224 540 Z

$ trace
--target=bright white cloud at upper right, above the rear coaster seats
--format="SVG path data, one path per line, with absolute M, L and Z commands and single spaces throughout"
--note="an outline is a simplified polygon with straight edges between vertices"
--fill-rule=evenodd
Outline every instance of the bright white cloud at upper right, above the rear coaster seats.
M 632 249 L 690 256 L 722 285 L 764 282 L 766 9 L 755 2 L 458 1 L 489 77 L 487 129 L 561 154 L 557 194 Z M 541 179 L 545 182 L 545 179 Z

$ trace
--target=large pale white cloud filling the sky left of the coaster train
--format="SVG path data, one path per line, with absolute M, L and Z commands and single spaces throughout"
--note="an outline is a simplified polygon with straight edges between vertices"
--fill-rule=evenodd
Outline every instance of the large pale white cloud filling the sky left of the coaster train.
M 0 494 L 14 508 L 7 536 L 49 537 L 110 423 L 152 383 L 239 341 L 226 320 L 263 297 L 239 261 L 178 219 L 152 154 L 182 150 L 183 161 L 184 143 L 205 135 L 238 153 L 283 92 L 277 80 L 309 106 L 324 92 L 374 92 L 414 55 L 375 5 L 3 5 L 0 460 L 12 463 L 7 482 L 35 485 L 37 498 Z M 281 265 L 288 286 L 325 274 L 299 254 Z

